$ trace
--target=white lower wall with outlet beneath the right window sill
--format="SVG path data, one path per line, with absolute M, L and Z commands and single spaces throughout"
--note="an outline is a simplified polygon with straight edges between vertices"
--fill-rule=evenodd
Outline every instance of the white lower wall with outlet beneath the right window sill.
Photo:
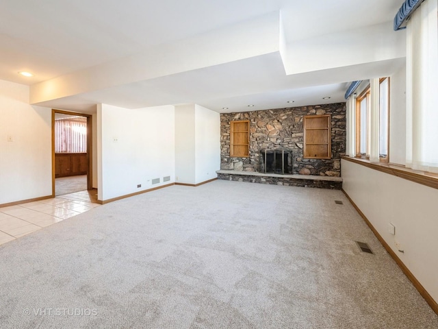
M 438 190 L 347 160 L 342 178 L 344 191 L 438 302 Z M 388 223 L 396 235 L 389 234 Z

